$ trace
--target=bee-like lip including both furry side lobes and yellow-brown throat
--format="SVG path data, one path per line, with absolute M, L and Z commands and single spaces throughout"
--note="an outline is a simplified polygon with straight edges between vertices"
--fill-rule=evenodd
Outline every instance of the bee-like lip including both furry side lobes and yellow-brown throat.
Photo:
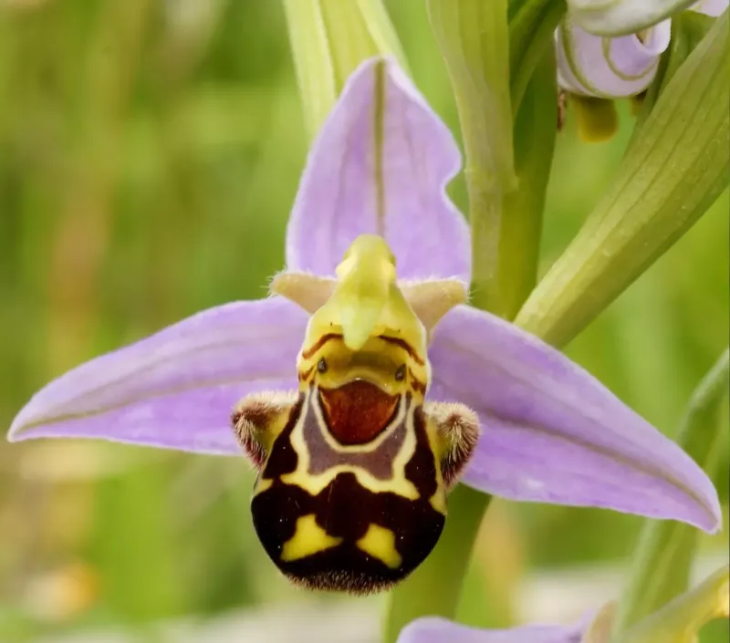
M 255 531 L 293 582 L 379 591 L 438 542 L 446 491 L 474 450 L 478 422 L 463 405 L 424 402 L 428 373 L 401 338 L 351 350 L 327 332 L 305 341 L 298 391 L 236 406 L 236 434 L 259 471 Z

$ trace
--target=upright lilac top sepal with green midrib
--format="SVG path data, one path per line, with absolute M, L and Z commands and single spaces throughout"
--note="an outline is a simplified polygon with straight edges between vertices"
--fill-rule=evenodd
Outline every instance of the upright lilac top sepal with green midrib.
M 372 233 L 391 246 L 401 279 L 468 281 L 468 228 L 445 192 L 460 167 L 454 137 L 401 68 L 365 61 L 309 152 L 288 269 L 333 275 L 349 244 Z

